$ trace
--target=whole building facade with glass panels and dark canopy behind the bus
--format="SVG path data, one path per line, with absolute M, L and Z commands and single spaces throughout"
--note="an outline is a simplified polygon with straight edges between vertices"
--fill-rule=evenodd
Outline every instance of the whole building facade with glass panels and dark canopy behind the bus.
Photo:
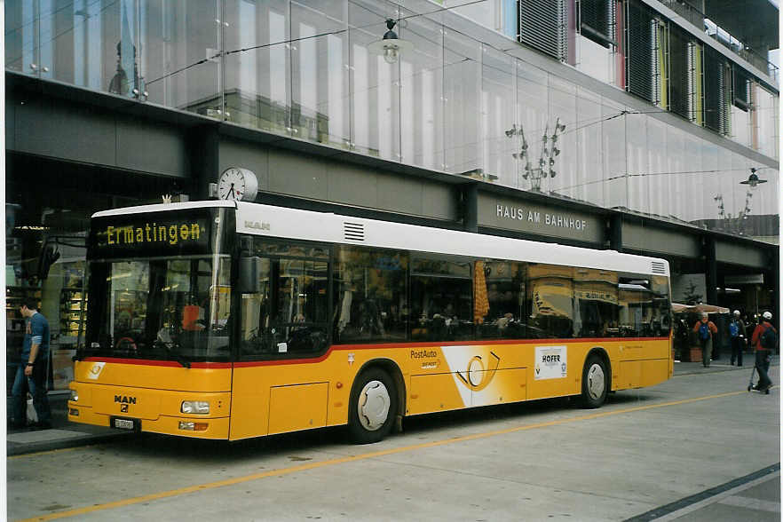
M 666 257 L 680 297 L 777 312 L 777 24 L 699 4 L 8 1 L 9 349 L 28 294 L 75 346 L 91 212 L 231 166 L 259 202 Z

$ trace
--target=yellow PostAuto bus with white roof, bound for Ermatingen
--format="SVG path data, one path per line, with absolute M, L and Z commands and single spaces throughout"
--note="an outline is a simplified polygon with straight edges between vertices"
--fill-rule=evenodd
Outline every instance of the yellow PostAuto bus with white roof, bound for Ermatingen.
M 250 202 L 99 212 L 68 419 L 205 439 L 658 384 L 663 259 Z

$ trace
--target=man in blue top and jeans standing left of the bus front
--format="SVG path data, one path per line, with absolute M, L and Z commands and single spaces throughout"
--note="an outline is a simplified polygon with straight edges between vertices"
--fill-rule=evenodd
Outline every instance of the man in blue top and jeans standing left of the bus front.
M 12 427 L 24 427 L 27 423 L 26 386 L 33 396 L 38 422 L 36 427 L 51 428 L 51 410 L 46 395 L 46 363 L 49 361 L 49 321 L 38 312 L 35 298 L 26 298 L 20 306 L 25 318 L 25 338 L 21 358 L 13 380 Z

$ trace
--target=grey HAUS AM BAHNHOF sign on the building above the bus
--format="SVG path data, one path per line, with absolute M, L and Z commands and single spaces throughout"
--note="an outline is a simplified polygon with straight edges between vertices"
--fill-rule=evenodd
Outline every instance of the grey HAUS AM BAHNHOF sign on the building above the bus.
M 585 212 L 479 194 L 479 225 L 600 244 L 603 220 Z

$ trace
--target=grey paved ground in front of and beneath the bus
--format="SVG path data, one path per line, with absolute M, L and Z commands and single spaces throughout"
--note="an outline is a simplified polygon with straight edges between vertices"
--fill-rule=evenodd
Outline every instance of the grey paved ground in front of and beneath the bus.
M 596 413 L 544 401 L 428 416 L 368 447 L 335 431 L 219 446 L 129 437 L 68 425 L 57 398 L 55 429 L 9 434 L 9 515 L 166 520 L 197 502 L 201 518 L 225 520 L 515 518 L 510 506 L 526 519 L 779 520 L 779 391 L 748 394 L 751 368 L 721 362 L 676 363 L 668 383 Z M 31 502 L 31 486 L 48 503 Z

